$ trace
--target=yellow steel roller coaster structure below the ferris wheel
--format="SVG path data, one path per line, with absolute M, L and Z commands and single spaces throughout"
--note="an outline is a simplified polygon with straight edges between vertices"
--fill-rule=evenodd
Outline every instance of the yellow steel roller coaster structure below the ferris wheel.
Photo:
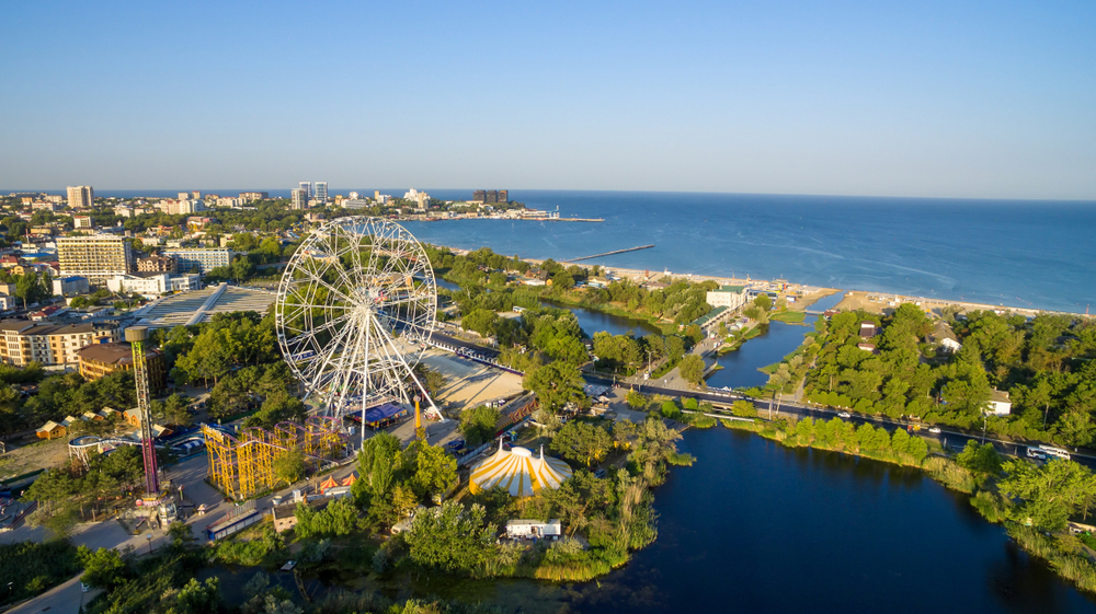
M 300 451 L 313 464 L 334 460 L 346 449 L 346 435 L 333 418 L 310 416 L 304 425 L 279 422 L 273 431 L 251 427 L 238 437 L 202 425 L 209 455 L 209 482 L 226 496 L 248 499 L 274 488 L 274 462 Z

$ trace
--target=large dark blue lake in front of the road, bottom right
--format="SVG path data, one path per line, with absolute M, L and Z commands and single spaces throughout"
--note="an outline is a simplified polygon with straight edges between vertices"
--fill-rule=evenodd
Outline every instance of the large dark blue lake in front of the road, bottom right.
M 1094 612 L 966 497 L 921 472 L 687 431 L 659 538 L 570 592 L 574 612 Z

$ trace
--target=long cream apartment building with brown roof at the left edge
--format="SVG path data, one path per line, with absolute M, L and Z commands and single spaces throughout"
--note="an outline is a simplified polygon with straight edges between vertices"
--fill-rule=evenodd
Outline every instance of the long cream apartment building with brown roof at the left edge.
M 75 364 L 77 352 L 95 344 L 118 339 L 114 324 L 85 322 L 57 325 L 28 320 L 0 321 L 0 361 L 25 366 L 37 361 L 43 364 Z

